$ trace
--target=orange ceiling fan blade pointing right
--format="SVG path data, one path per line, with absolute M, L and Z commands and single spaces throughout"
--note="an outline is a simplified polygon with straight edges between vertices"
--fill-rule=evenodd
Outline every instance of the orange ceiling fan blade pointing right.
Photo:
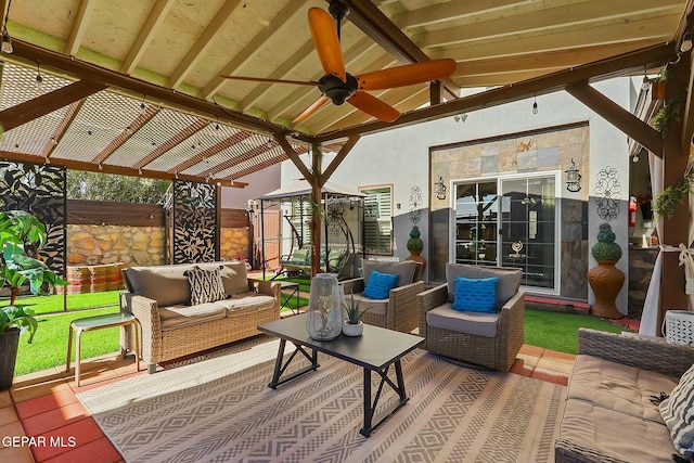
M 386 90 L 448 77 L 455 70 L 455 60 L 432 60 L 374 70 L 357 77 L 359 90 Z

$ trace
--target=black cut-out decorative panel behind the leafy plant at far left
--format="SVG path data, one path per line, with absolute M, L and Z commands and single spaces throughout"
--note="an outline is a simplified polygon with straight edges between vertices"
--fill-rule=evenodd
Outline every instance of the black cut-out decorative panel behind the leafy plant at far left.
M 0 160 L 1 207 L 26 210 L 43 222 L 48 242 L 39 256 L 62 276 L 67 262 L 66 173 L 60 166 Z

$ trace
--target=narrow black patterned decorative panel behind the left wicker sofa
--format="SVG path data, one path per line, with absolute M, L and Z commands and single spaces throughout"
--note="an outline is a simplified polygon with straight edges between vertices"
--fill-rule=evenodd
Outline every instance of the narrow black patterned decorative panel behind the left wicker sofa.
M 217 260 L 217 187 L 174 182 L 174 263 Z

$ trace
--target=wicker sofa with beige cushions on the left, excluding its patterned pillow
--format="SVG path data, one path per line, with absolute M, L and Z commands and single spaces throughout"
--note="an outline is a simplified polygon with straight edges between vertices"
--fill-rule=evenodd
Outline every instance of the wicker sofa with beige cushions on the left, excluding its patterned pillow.
M 191 305 L 184 272 L 195 266 L 219 268 L 228 297 Z M 130 267 L 123 275 L 120 311 L 140 321 L 141 358 L 150 373 L 159 362 L 254 336 L 258 324 L 280 318 L 279 283 L 248 279 L 243 261 Z M 134 346 L 133 333 L 120 342 Z

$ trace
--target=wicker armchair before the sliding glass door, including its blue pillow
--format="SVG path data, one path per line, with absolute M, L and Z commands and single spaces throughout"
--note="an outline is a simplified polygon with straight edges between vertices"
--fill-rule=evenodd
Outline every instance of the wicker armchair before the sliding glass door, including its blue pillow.
M 447 283 L 417 295 L 425 348 L 463 362 L 509 371 L 524 340 L 522 276 L 520 269 L 448 263 Z M 478 297 L 485 290 L 493 293 Z

